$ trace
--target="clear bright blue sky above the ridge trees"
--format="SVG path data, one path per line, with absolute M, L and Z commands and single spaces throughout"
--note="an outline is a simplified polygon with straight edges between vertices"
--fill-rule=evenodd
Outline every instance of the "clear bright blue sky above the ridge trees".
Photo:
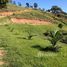
M 52 6 L 57 5 L 67 12 L 67 0 L 13 0 L 16 3 L 21 2 L 23 6 L 28 2 L 33 5 L 34 2 L 38 3 L 38 7 L 50 9 Z

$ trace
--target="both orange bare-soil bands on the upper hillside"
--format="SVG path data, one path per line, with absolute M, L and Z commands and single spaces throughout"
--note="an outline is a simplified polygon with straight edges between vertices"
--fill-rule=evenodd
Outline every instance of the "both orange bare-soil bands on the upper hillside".
M 26 12 L 26 11 L 27 10 L 16 11 L 16 12 L 0 12 L 0 18 L 10 16 L 13 13 L 21 13 L 21 12 Z M 32 24 L 32 25 L 48 25 L 48 24 L 52 24 L 49 21 L 38 20 L 38 19 L 36 20 L 36 19 L 11 18 L 11 21 L 13 23 L 17 23 L 17 24 Z

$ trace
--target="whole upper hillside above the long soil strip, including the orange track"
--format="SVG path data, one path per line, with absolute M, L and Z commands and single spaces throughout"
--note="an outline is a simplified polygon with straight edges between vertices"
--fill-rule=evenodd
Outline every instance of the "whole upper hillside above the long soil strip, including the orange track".
M 5 13 L 6 12 L 6 13 Z M 41 11 L 41 10 L 35 10 L 32 8 L 24 8 L 16 5 L 7 4 L 7 9 L 4 9 L 3 12 L 0 12 L 0 15 L 2 14 L 5 16 L 10 16 L 10 18 L 19 18 L 19 19 L 35 19 L 35 20 L 43 20 L 51 23 L 62 23 L 67 24 L 67 19 L 63 15 L 63 17 L 57 17 L 54 14 L 47 12 L 47 11 Z

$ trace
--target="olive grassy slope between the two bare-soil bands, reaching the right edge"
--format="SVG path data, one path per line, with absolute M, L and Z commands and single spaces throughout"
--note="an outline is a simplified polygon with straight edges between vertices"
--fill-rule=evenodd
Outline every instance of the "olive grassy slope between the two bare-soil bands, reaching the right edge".
M 34 10 L 34 9 L 23 9 L 20 14 L 15 13 L 12 17 L 16 18 L 26 18 L 26 19 L 39 19 L 39 20 L 46 20 L 53 23 L 62 23 L 67 24 L 67 19 L 63 17 L 57 17 L 52 13 L 41 11 L 41 10 Z

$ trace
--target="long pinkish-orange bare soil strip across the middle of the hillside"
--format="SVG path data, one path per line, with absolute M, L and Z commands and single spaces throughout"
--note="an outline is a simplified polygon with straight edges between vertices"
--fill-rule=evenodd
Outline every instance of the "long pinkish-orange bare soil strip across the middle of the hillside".
M 23 19 L 23 18 L 11 18 L 11 21 L 13 23 L 18 23 L 18 24 L 32 24 L 32 25 L 48 25 L 52 24 L 49 21 L 44 21 L 44 20 L 36 20 L 36 19 Z

